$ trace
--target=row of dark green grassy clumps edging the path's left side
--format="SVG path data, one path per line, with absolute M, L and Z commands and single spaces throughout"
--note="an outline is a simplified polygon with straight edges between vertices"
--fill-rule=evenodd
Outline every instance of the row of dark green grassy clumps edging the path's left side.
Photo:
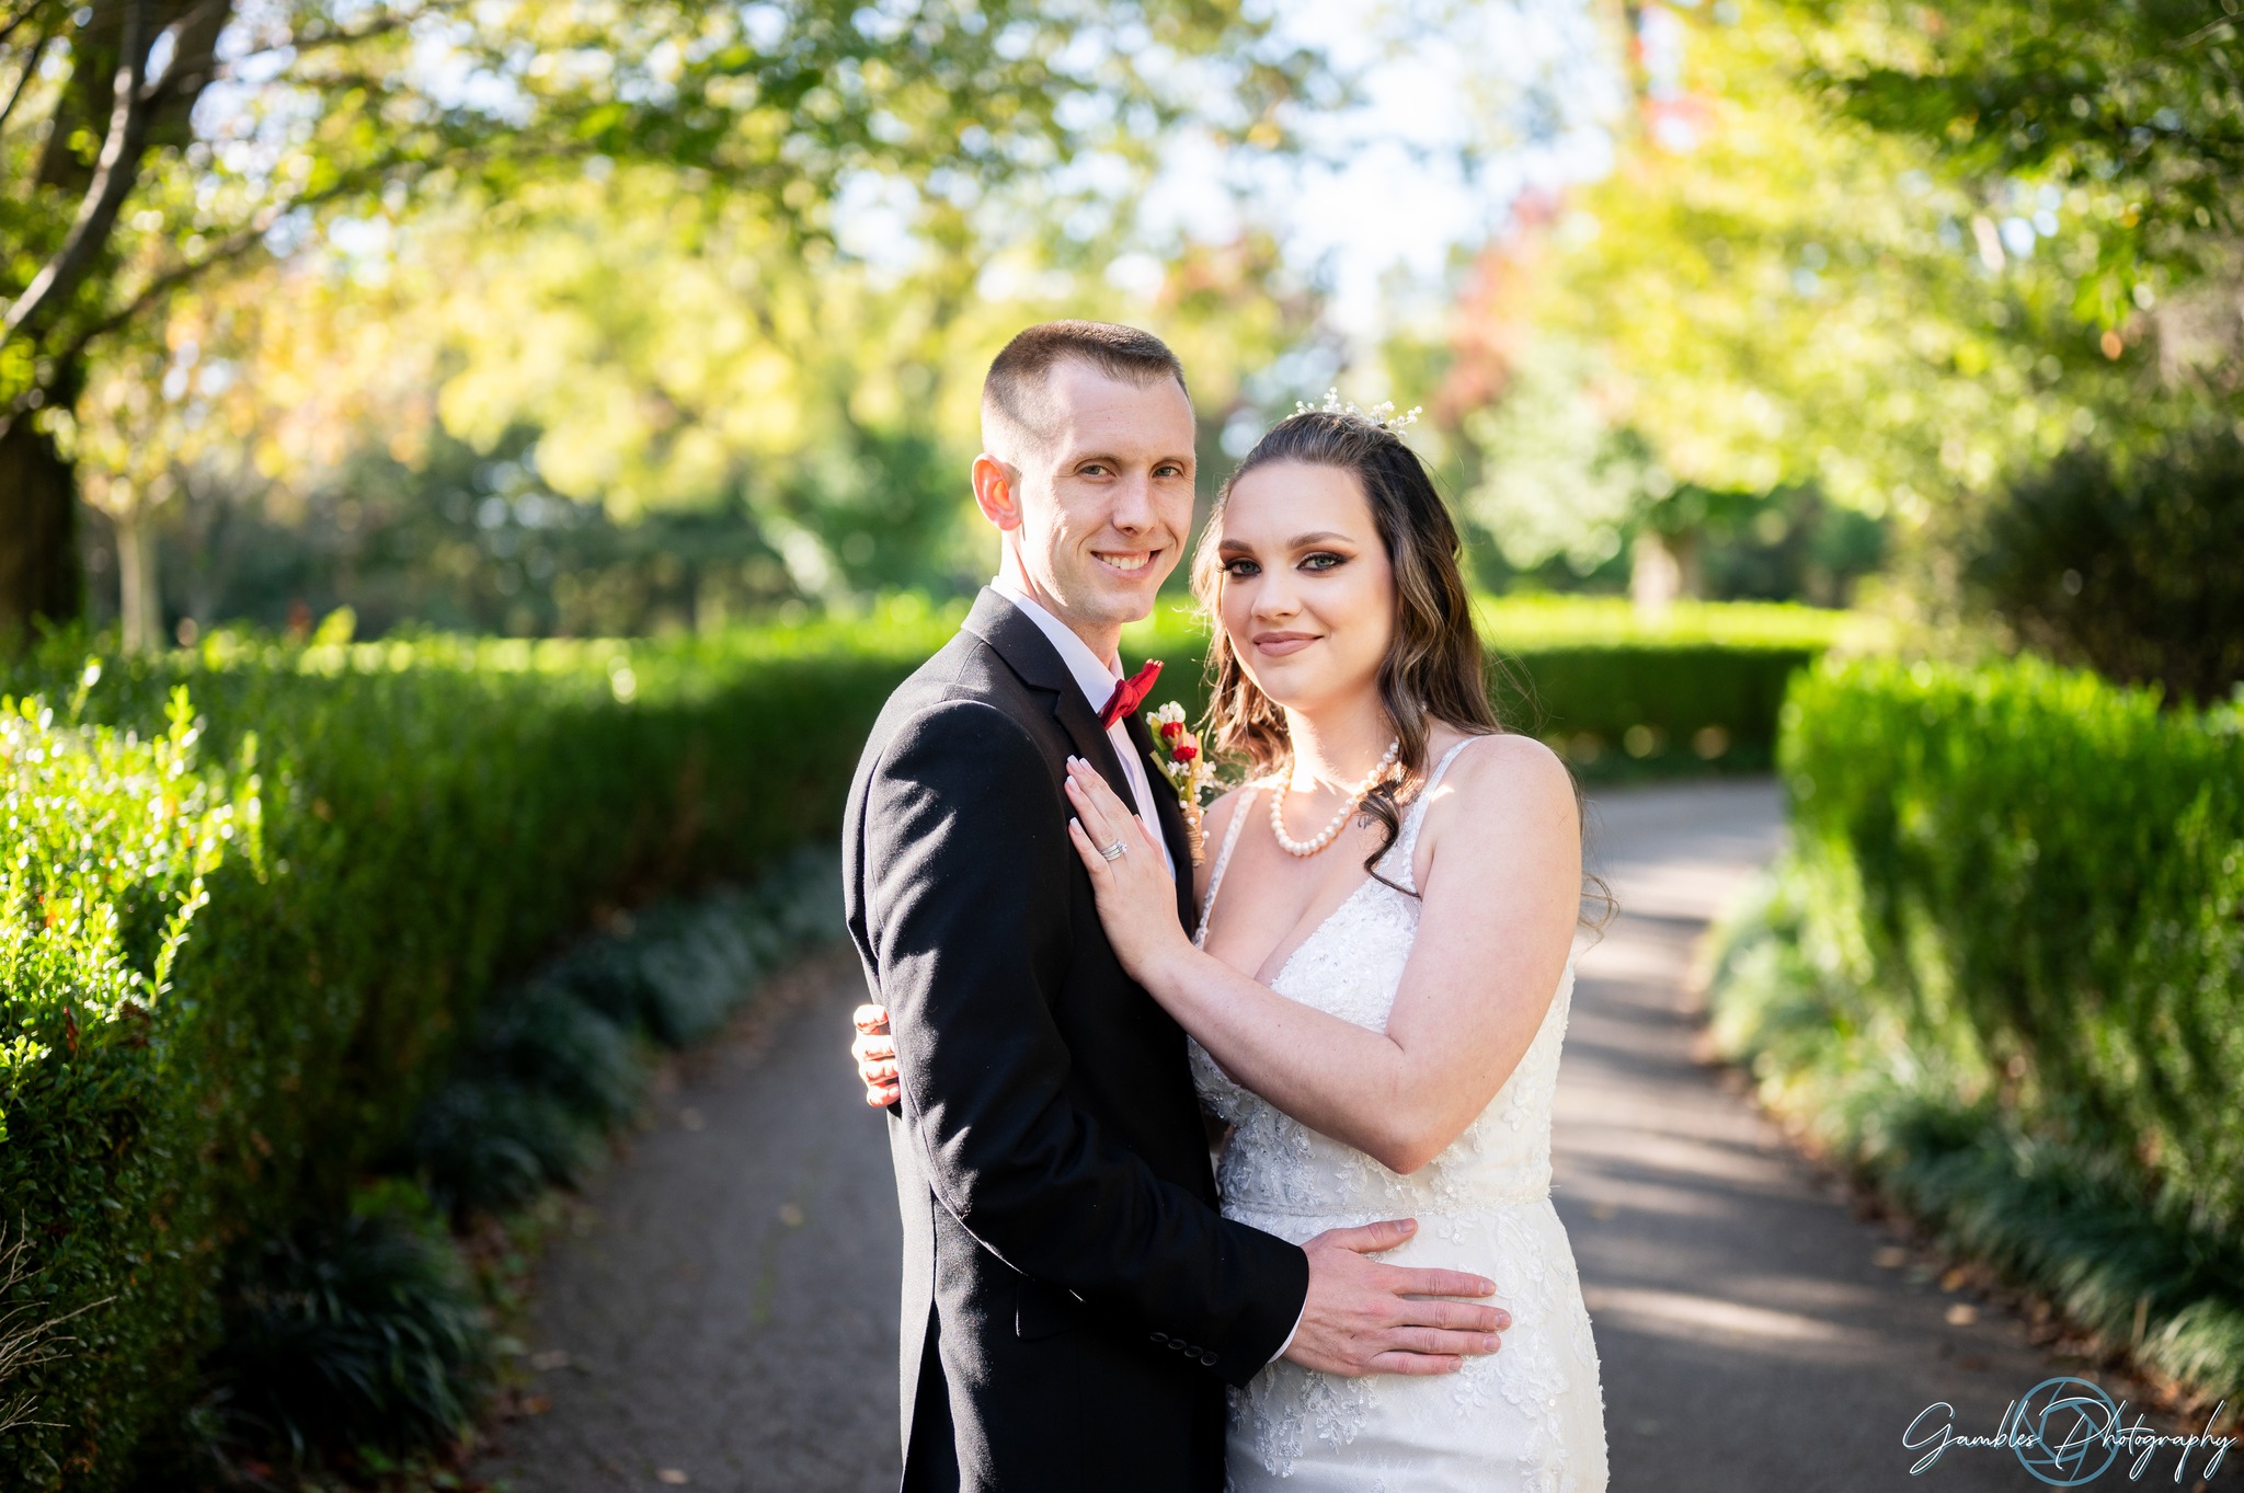
M 303 1226 L 247 1262 L 206 1370 L 220 1462 L 321 1466 L 458 1435 L 489 1390 L 491 1332 L 429 1220 L 469 1224 L 579 1181 L 646 1092 L 653 1033 L 601 1016 L 565 975 L 653 966 L 669 998 L 723 1020 L 765 973 L 839 935 L 839 861 L 815 847 L 752 892 L 617 919 L 628 930 L 496 995 L 453 1081 L 422 1107 L 399 1157 L 408 1175 L 373 1190 L 388 1206 Z

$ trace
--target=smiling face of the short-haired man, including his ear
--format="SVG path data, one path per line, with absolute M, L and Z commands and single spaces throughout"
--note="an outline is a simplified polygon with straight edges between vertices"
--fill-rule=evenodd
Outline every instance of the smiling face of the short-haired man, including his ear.
M 1003 471 L 976 464 L 983 513 L 1061 621 L 1151 614 L 1192 529 L 1192 401 L 1174 379 L 1133 383 L 1061 361 L 1037 406 L 1037 428 L 985 426 L 985 462 Z

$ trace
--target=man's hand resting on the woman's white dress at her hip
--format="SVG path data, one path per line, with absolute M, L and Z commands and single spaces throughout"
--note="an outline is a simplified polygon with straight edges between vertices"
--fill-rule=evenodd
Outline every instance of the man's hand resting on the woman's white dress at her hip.
M 1396 1249 L 1418 1226 L 1409 1220 L 1328 1228 L 1308 1253 L 1308 1302 L 1286 1356 L 1326 1374 L 1454 1374 L 1465 1358 L 1497 1352 L 1508 1311 L 1461 1296 L 1495 1296 L 1492 1280 L 1463 1271 L 1380 1264 L 1364 1255 Z M 1447 1300 L 1445 1300 L 1447 1298 Z

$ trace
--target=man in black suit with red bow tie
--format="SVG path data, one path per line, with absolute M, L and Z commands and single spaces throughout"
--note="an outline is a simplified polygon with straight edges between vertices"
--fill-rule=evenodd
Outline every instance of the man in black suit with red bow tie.
M 1490 1293 L 1477 1276 L 1367 1258 L 1409 1224 L 1297 1246 L 1216 1211 L 1185 1036 L 1122 973 L 1068 845 L 1077 755 L 1160 825 L 1192 919 L 1183 818 L 1115 661 L 1192 525 L 1176 354 L 1030 327 L 990 365 L 983 446 L 999 578 L 889 699 L 842 838 L 893 1024 L 904 1489 L 1218 1493 L 1223 1385 L 1277 1356 L 1445 1372 L 1508 1320 L 1427 1300 Z

